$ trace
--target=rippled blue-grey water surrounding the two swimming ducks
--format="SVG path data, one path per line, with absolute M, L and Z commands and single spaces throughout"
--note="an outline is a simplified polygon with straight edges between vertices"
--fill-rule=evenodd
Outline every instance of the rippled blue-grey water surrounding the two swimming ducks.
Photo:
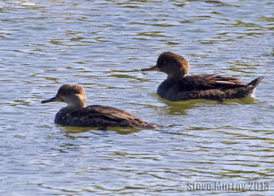
M 267 182 L 268 191 L 240 193 L 273 195 L 273 5 L 1 1 L 0 195 L 237 193 L 189 191 L 188 182 Z M 255 99 L 166 101 L 155 94 L 166 75 L 140 73 L 163 51 L 185 56 L 190 74 L 265 77 Z M 55 125 L 64 104 L 40 101 L 62 84 L 164 127 Z

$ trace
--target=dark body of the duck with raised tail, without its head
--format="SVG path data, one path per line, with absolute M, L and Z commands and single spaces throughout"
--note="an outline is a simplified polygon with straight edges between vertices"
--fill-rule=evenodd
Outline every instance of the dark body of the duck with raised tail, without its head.
M 235 77 L 220 75 L 190 75 L 182 78 L 165 79 L 157 89 L 158 95 L 170 101 L 188 99 L 240 99 L 252 97 L 262 77 L 249 84 L 242 84 Z

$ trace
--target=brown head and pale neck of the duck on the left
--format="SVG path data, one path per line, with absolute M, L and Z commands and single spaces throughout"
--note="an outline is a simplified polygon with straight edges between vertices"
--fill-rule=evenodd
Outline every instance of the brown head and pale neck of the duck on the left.
M 86 106 L 86 92 L 82 86 L 73 84 L 62 85 L 55 97 L 42 101 L 47 103 L 62 101 L 68 104 L 67 108 L 84 108 Z

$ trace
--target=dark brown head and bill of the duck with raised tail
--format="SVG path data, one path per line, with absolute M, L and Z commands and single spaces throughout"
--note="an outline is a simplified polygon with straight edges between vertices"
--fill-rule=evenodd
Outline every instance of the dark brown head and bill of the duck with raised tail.
M 168 78 L 176 75 L 184 77 L 189 72 L 189 64 L 186 58 L 166 51 L 159 56 L 155 66 L 141 69 L 141 71 L 162 71 L 168 75 Z

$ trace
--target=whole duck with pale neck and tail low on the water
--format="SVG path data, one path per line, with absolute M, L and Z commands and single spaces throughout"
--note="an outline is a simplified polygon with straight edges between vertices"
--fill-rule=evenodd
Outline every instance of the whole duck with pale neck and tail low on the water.
M 92 105 L 86 107 L 86 92 L 82 86 L 64 84 L 57 95 L 41 101 L 48 103 L 62 101 L 68 104 L 56 115 L 54 123 L 75 127 L 142 127 L 155 128 L 134 114 L 110 106 Z

